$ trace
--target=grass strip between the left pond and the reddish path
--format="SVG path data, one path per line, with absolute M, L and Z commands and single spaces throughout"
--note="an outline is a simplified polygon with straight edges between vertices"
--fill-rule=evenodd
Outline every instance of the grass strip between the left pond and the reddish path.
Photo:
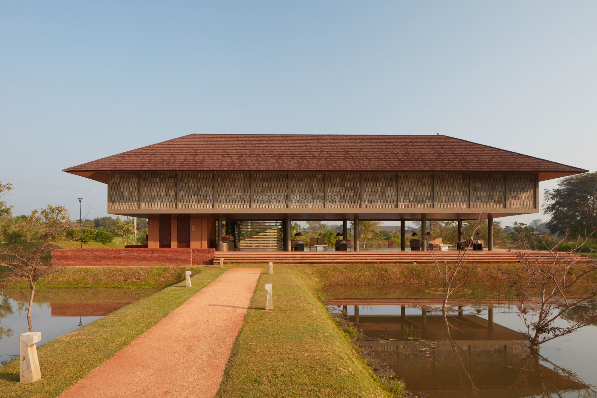
M 91 372 L 141 333 L 158 323 L 225 270 L 203 268 L 193 287 L 179 283 L 38 348 L 42 379 L 19 383 L 19 359 L 0 367 L 0 396 L 55 397 Z

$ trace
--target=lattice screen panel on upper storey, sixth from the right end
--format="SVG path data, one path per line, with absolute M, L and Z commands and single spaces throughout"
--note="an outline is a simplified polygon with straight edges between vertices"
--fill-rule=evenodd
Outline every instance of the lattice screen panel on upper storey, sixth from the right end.
M 358 209 L 361 176 L 358 173 L 328 173 L 325 176 L 325 206 L 329 209 Z

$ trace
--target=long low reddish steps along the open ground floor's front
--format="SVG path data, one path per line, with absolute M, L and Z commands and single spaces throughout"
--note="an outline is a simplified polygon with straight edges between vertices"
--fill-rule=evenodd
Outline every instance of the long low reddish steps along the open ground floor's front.
M 552 255 L 549 252 L 532 253 L 529 255 L 532 261 L 547 262 L 552 261 Z M 504 251 L 479 251 L 466 253 L 463 255 L 457 251 L 448 252 L 401 252 L 396 251 L 376 251 L 362 250 L 360 252 L 216 252 L 214 263 L 223 259 L 224 264 L 261 264 L 275 262 L 276 264 L 456 264 L 461 261 L 463 264 L 514 264 L 518 263 L 519 258 L 514 252 Z M 565 260 L 576 262 L 590 262 L 592 259 L 568 255 Z

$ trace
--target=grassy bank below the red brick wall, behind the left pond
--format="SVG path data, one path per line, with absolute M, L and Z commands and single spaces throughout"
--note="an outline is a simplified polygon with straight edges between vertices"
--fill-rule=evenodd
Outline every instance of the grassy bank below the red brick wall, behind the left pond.
M 36 289 L 68 287 L 121 287 L 127 289 L 163 289 L 184 279 L 184 271 L 198 273 L 202 267 L 67 267 L 42 277 Z M 0 279 L 2 270 L 0 270 Z M 6 278 L 0 285 L 10 289 L 29 289 L 24 278 Z

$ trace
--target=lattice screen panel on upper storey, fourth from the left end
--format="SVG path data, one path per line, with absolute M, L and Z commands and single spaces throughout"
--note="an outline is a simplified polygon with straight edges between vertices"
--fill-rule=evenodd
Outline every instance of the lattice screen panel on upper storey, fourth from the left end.
M 250 208 L 251 175 L 249 173 L 216 173 L 216 182 L 219 209 Z

